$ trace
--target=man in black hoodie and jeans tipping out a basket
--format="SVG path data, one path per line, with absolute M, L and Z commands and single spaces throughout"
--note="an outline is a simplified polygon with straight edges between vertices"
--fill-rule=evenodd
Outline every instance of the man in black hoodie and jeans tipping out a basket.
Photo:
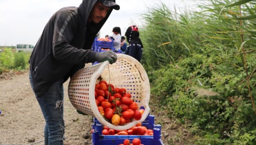
M 115 0 L 83 0 L 79 7 L 58 10 L 30 56 L 29 79 L 46 121 L 46 145 L 63 144 L 63 83 L 85 63 L 117 60 L 113 51 L 90 50 L 113 9 L 120 9 Z

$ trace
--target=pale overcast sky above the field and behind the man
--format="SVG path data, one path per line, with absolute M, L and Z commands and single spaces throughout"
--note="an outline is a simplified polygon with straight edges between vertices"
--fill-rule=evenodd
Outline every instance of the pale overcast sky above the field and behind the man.
M 174 2 L 175 1 L 175 2 Z M 0 0 L 0 46 L 16 46 L 17 43 L 35 45 L 49 20 L 63 7 L 78 7 L 82 0 Z M 162 0 L 171 10 L 176 7 L 194 7 L 193 0 Z M 101 29 L 101 37 L 112 35 L 113 27 L 120 27 L 124 35 L 131 25 L 141 25 L 140 14 L 147 7 L 161 4 L 161 0 L 116 0 L 120 10 L 113 10 Z

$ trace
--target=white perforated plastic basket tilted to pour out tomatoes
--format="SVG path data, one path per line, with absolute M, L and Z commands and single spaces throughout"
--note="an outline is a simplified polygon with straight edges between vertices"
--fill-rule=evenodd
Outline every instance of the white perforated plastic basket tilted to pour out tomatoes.
M 137 103 L 138 109 L 145 107 L 140 120 L 133 119 L 123 126 L 115 126 L 101 116 L 94 97 L 95 84 L 99 83 L 99 77 L 107 83 L 110 79 L 110 84 L 115 87 L 125 88 L 126 92 L 131 94 L 131 99 Z M 150 112 L 150 85 L 147 73 L 140 62 L 128 55 L 118 54 L 117 61 L 112 65 L 109 61 L 104 61 L 77 71 L 68 85 L 68 97 L 77 110 L 94 116 L 102 125 L 119 131 L 143 122 Z

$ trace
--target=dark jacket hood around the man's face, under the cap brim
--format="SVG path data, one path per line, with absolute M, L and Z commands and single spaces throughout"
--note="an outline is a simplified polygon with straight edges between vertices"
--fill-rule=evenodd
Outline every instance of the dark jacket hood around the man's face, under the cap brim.
M 79 15 L 78 17 L 81 20 L 81 22 L 83 23 L 84 27 L 86 27 L 86 23 L 89 18 L 90 12 L 91 12 L 94 4 L 97 1 L 98 0 L 83 0 L 82 3 L 80 4 L 80 6 L 78 7 L 78 15 Z M 116 1 L 114 0 L 114 2 L 116 2 Z M 109 10 L 109 12 L 107 13 L 107 15 L 104 19 L 102 19 L 99 23 L 96 24 L 96 27 L 101 28 L 104 25 L 104 23 L 107 21 L 112 10 L 113 10 L 113 8 L 111 8 Z

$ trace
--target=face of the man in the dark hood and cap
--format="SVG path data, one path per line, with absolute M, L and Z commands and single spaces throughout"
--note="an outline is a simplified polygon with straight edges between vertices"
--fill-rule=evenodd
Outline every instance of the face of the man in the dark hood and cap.
M 88 21 L 93 21 L 94 23 L 99 23 L 102 19 L 104 19 L 110 10 L 110 7 L 104 6 L 102 3 L 97 1 L 92 8 Z

